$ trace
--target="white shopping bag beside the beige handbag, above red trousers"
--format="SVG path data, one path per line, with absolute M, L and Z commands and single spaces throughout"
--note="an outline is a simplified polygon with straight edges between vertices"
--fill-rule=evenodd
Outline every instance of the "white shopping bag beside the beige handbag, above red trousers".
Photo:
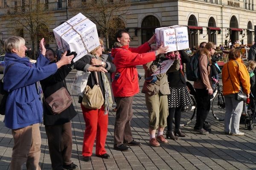
M 71 90 L 73 93 L 83 97 L 90 72 L 77 71 Z

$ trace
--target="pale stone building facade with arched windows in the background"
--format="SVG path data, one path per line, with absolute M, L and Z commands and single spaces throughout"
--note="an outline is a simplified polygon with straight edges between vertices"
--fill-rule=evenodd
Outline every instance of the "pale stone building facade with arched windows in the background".
M 5 16 L 14 13 L 15 6 L 23 6 L 24 1 L 0 0 L 2 44 L 7 37 L 13 34 L 19 35 L 17 31 L 15 33 L 10 31 L 14 28 L 5 24 Z M 36 0 L 38 3 L 45 3 L 52 16 L 49 18 L 52 22 L 48 25 L 50 32 L 67 20 L 67 14 L 70 18 L 79 13 L 79 9 L 86 8 L 82 6 L 84 1 L 86 0 Z M 212 41 L 217 45 L 224 45 L 228 40 L 234 42 L 237 39 L 243 44 L 252 44 L 254 41 L 256 0 L 130 0 L 130 2 L 124 22 L 131 36 L 131 46 L 147 41 L 154 34 L 155 28 L 172 25 L 188 27 L 190 47 L 197 46 L 203 41 Z M 25 29 L 21 32 L 29 44 L 28 33 Z M 49 43 L 50 47 L 55 48 L 55 41 Z

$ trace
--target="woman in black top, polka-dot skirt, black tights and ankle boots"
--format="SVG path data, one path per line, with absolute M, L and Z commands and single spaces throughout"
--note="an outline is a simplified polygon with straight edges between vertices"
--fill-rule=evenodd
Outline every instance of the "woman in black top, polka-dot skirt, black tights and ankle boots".
M 184 73 L 182 71 L 182 63 L 189 62 L 190 58 L 184 50 L 168 53 L 167 57 L 172 59 L 177 55 L 180 59 L 180 69 L 178 71 L 168 73 L 168 82 L 171 94 L 168 95 L 169 116 L 167 117 L 166 138 L 173 140 L 177 140 L 177 136 L 185 137 L 185 134 L 180 130 L 181 109 L 188 105 L 192 105 L 191 97 L 189 96 L 189 91 L 186 87 Z M 173 117 L 175 117 L 174 133 L 172 131 Z

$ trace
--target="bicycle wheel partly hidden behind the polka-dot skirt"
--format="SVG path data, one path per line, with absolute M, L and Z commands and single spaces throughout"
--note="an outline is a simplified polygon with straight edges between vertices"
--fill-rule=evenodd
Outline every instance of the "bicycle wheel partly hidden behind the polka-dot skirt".
M 190 94 L 190 96 L 191 96 L 191 100 L 192 100 L 192 105 L 181 109 L 180 126 L 188 125 L 195 116 L 195 112 L 196 112 L 195 97 L 191 94 Z

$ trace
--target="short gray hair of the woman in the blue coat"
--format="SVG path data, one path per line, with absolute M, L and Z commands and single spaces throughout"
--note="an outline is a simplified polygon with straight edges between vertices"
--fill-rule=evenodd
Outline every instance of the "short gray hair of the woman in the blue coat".
M 25 45 L 24 38 L 18 36 L 9 37 L 4 41 L 4 51 L 12 53 L 13 49 L 20 50 L 21 45 Z

